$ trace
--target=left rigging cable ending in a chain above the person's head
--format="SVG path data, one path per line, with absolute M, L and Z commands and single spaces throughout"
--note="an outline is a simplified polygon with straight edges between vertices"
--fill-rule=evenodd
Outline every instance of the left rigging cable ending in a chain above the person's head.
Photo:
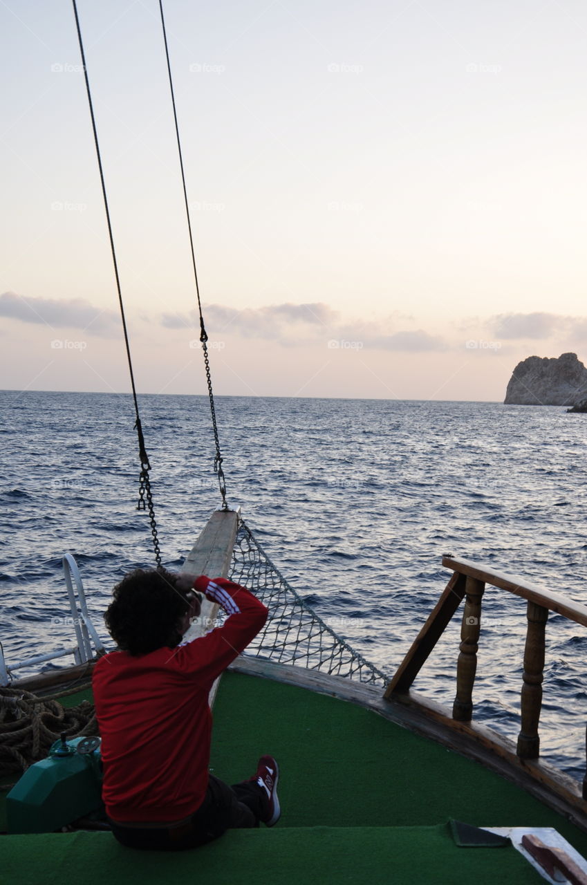
M 83 41 L 81 39 L 81 28 L 80 28 L 80 19 L 77 14 L 77 5 L 75 4 L 75 0 L 73 2 L 73 14 L 75 15 L 75 27 L 77 27 L 77 35 L 78 42 L 80 43 L 80 53 L 81 53 L 81 65 L 83 67 L 83 75 L 86 81 L 86 91 L 88 93 L 88 103 L 89 103 L 89 115 L 92 119 L 92 130 L 94 132 L 94 143 L 96 144 L 96 154 L 98 161 L 98 169 L 100 171 L 100 181 L 102 182 L 102 194 L 104 196 L 104 209 L 106 211 L 106 222 L 108 224 L 108 235 L 110 237 L 110 248 L 112 250 L 112 262 L 114 264 L 114 276 L 116 278 L 116 289 L 118 291 L 119 296 L 119 304 L 120 304 L 120 316 L 122 317 L 122 329 L 124 331 L 124 341 L 127 348 L 127 360 L 128 360 L 128 371 L 130 373 L 130 383 L 133 389 L 133 399 L 135 402 L 135 429 L 136 435 L 138 437 L 139 443 L 139 458 L 141 459 L 141 473 L 139 477 L 139 500 L 136 509 L 137 510 L 145 510 L 145 497 L 146 497 L 146 509 L 149 511 L 149 521 L 151 522 L 151 535 L 153 538 L 153 548 L 155 550 L 155 561 L 157 565 L 161 566 L 161 553 L 159 550 L 159 542 L 158 542 L 158 532 L 157 532 L 157 523 L 155 521 L 155 509 L 153 506 L 153 497 L 151 492 L 151 480 L 149 477 L 149 471 L 151 470 L 151 464 L 149 463 L 149 457 L 147 455 L 147 451 L 144 445 L 144 437 L 143 437 L 143 427 L 141 424 L 141 416 L 139 414 L 139 405 L 136 399 L 136 388 L 135 388 L 135 374 L 133 373 L 133 363 L 130 357 L 130 345 L 128 343 L 128 334 L 127 334 L 127 320 L 125 318 L 124 313 L 124 304 L 122 303 L 122 293 L 120 291 L 120 277 L 119 277 L 119 268 L 118 262 L 116 260 L 116 250 L 114 249 L 114 237 L 112 235 L 112 224 L 110 221 L 110 211 L 108 209 L 108 197 L 106 196 L 106 185 L 104 182 L 104 171 L 102 168 L 102 158 L 100 156 L 100 146 L 98 144 L 97 138 L 97 128 L 96 128 L 96 119 L 94 117 L 94 105 L 92 104 L 92 96 L 89 91 L 89 79 L 88 79 L 88 68 L 86 67 L 86 56 L 83 51 Z

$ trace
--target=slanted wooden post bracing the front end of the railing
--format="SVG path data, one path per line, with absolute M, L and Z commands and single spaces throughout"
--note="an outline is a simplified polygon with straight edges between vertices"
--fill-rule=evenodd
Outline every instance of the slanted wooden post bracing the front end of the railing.
M 385 689 L 385 697 L 389 698 L 394 691 L 407 691 L 420 673 L 422 666 L 429 658 L 430 652 L 443 635 L 444 627 L 449 623 L 465 596 L 464 575 L 454 572 L 451 580 L 444 588 L 443 594 L 429 615 L 429 619 L 416 636 L 404 660 L 398 666 L 393 679 Z

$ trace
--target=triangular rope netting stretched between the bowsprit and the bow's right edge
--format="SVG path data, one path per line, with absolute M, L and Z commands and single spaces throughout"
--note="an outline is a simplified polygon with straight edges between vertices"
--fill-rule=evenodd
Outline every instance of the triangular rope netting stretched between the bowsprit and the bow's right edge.
M 389 677 L 344 642 L 305 603 L 266 555 L 243 519 L 239 519 L 230 578 L 251 590 L 269 609 L 266 625 L 247 646 L 245 656 L 269 658 L 372 685 Z

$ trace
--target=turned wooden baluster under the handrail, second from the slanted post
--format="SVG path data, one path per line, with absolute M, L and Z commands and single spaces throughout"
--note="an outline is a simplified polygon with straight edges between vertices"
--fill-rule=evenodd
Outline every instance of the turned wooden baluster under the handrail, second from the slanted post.
M 521 759 L 540 755 L 538 721 L 542 706 L 542 680 L 545 668 L 545 627 L 548 609 L 528 603 L 528 633 L 524 649 L 524 684 L 521 687 L 521 732 L 517 753 Z

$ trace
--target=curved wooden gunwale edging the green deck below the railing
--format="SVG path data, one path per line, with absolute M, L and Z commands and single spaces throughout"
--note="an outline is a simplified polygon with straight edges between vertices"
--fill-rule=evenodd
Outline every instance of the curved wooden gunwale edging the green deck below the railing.
M 572 778 L 544 760 L 528 762 L 518 758 L 513 741 L 475 721 L 456 722 L 450 711 L 413 691 L 394 693 L 390 700 L 385 700 L 380 689 L 361 682 L 247 655 L 236 658 L 228 669 L 297 685 L 373 710 L 401 727 L 475 759 L 587 832 L 585 803 L 578 783 Z

